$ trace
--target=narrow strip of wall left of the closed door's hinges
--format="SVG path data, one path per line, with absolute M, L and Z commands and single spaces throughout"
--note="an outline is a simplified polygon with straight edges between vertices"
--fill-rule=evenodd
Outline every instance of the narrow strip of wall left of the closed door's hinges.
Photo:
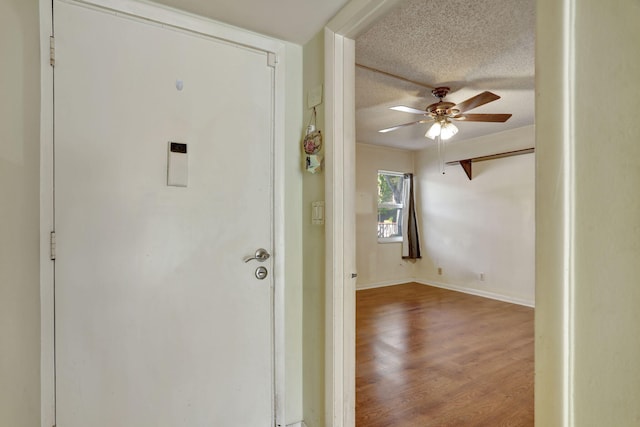
M 0 425 L 40 425 L 36 0 L 0 2 Z

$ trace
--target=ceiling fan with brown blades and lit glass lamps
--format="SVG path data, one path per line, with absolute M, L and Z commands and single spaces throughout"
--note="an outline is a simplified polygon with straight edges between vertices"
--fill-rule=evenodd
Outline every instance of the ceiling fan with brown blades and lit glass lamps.
M 462 101 L 459 104 L 454 104 L 452 102 L 446 102 L 442 100 L 445 96 L 447 96 L 449 90 L 450 89 L 448 87 L 437 87 L 433 89 L 431 93 L 433 94 L 433 96 L 438 98 L 439 101 L 428 105 L 424 111 L 402 105 L 391 107 L 392 110 L 396 111 L 421 114 L 425 116 L 425 118 L 422 120 L 417 120 L 415 122 L 404 123 L 386 129 L 381 129 L 378 132 L 391 132 L 405 126 L 412 126 L 418 123 L 433 123 L 425 136 L 430 139 L 436 139 L 439 137 L 443 140 L 447 140 L 458 133 L 458 128 L 452 123 L 452 121 L 504 123 L 509 120 L 509 117 L 511 117 L 511 114 L 466 114 L 466 112 L 469 110 L 500 99 L 500 97 L 495 93 L 482 92 L 476 96 L 472 96 L 466 101 Z

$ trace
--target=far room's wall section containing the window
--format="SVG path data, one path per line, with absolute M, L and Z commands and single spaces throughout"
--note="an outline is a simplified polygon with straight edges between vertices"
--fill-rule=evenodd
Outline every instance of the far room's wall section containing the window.
M 356 267 L 358 289 L 410 282 L 415 261 L 402 243 L 378 243 L 378 171 L 413 173 L 413 152 L 356 144 Z

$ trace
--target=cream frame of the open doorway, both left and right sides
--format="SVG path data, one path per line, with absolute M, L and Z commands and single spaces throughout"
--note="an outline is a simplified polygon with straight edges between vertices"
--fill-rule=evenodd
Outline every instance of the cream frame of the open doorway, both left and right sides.
M 536 393 L 535 417 L 562 426 L 573 422 L 576 352 L 571 104 L 576 2 L 536 0 L 536 122 L 540 125 L 536 131 L 536 170 L 551 173 L 536 176 L 535 388 L 553 390 L 553 394 L 542 397 Z M 325 413 L 327 425 L 332 427 L 355 425 L 355 280 L 351 278 L 355 254 L 348 246 L 355 235 L 351 202 L 355 190 L 349 181 L 355 169 L 354 40 L 397 3 L 351 0 L 325 28 Z M 540 69 L 545 73 L 539 73 Z M 557 105 L 558 98 L 562 114 L 557 114 L 557 108 L 548 108 Z

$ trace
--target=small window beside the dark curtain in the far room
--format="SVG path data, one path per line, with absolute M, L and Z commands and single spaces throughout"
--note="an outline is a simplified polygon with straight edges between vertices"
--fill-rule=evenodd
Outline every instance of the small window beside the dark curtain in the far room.
M 378 171 L 378 242 L 402 242 L 404 174 Z

